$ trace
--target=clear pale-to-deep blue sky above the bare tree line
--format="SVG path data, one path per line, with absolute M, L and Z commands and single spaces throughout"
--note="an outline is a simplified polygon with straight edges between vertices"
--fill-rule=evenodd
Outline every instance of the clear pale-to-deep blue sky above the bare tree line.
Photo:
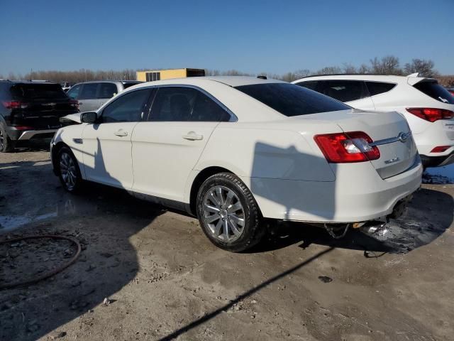
M 0 75 L 201 67 L 282 74 L 396 55 L 454 74 L 454 0 L 0 0 Z

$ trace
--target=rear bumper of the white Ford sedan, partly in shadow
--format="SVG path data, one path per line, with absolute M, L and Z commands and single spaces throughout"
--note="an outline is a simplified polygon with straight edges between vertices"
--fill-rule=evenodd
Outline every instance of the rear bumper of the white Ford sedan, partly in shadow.
M 264 217 L 299 222 L 365 222 L 392 214 L 421 186 L 419 158 L 406 172 L 383 180 L 370 163 L 336 166 L 335 181 L 242 178 Z

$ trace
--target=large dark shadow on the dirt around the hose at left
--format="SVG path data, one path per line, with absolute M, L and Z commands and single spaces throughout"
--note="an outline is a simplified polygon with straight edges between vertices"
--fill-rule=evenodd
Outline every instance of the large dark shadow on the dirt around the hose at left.
M 9 178 L 17 170 L 7 168 L 1 172 Z M 28 167 L 27 172 L 38 170 L 41 176 L 51 174 L 48 164 Z M 26 172 L 25 168 L 21 171 Z M 30 221 L 24 221 L 21 229 L 0 234 L 0 241 L 7 236 L 60 234 L 77 239 L 82 253 L 74 264 L 51 278 L 28 286 L 0 289 L 0 340 L 37 340 L 49 332 L 59 332 L 60 326 L 79 317 L 81 328 L 89 328 L 92 309 L 131 284 L 138 273 L 137 253 L 129 239 L 165 210 L 115 188 L 89 184 L 81 195 L 70 195 L 57 185 L 53 175 L 37 181 L 24 174 L 21 179 L 24 183 L 20 192 L 16 193 L 12 186 L 0 188 L 0 197 L 7 198 L 1 202 L 2 209 L 13 215 L 31 211 Z M 13 210 L 10 205 L 17 205 L 20 198 L 23 208 Z M 35 211 L 34 207 L 39 206 L 42 210 Z M 36 219 L 42 216 L 47 219 Z M 35 251 L 28 251 L 32 242 L 0 245 L 0 284 L 7 283 L 11 275 L 31 278 L 65 261 L 61 258 L 55 261 L 59 257 L 55 251 L 59 242 L 45 239 L 38 242 L 40 259 L 44 260 L 34 264 L 35 269 L 33 264 L 21 269 L 16 261 L 33 259 Z M 65 254 L 74 251 L 69 246 Z

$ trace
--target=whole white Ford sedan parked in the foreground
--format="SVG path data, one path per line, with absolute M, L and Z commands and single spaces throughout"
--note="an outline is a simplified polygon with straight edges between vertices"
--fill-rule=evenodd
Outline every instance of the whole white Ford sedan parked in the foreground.
M 400 114 L 278 80 L 148 82 L 66 119 L 80 124 L 51 142 L 66 190 L 89 180 L 186 210 L 230 251 L 260 240 L 262 218 L 359 227 L 400 212 L 421 184 Z

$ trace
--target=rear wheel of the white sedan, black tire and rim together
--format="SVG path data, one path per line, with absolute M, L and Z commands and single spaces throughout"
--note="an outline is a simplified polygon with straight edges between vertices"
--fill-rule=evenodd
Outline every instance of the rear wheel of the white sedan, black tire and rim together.
M 245 251 L 258 244 L 265 234 L 253 194 L 231 173 L 218 173 L 206 179 L 199 188 L 196 207 L 206 237 L 221 249 Z

